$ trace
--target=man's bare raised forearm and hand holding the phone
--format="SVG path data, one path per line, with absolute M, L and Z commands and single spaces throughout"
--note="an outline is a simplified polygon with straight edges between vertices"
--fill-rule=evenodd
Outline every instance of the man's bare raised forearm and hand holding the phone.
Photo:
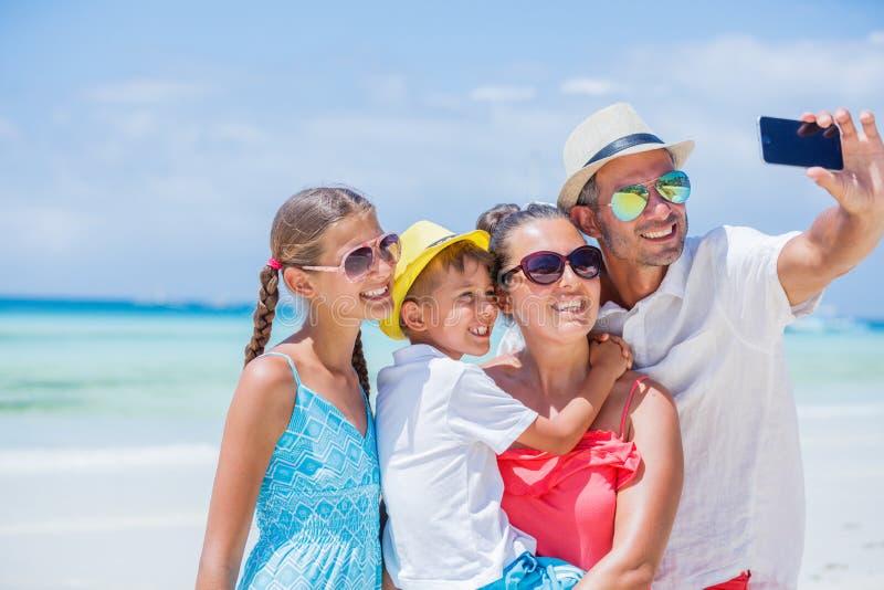
M 814 167 L 808 177 L 829 191 L 838 204 L 827 209 L 808 231 L 783 246 L 777 274 L 791 305 L 806 302 L 834 278 L 853 268 L 875 250 L 884 234 L 884 145 L 872 113 L 860 115 L 865 137 L 844 108 L 817 115 L 804 113 L 801 120 L 841 127 L 844 169 Z

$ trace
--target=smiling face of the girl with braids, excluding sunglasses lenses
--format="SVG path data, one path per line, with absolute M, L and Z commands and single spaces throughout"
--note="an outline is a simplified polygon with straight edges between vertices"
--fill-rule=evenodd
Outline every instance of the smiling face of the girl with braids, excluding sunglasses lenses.
M 373 247 L 371 268 L 365 277 L 350 281 L 344 271 L 305 271 L 313 287 L 308 297 L 314 305 L 324 306 L 338 322 L 382 319 L 393 310 L 392 282 L 394 263 L 388 263 L 378 251 L 377 238 L 383 234 L 373 210 L 354 213 L 323 235 L 323 254 L 317 266 L 341 266 L 345 256 L 355 247 Z

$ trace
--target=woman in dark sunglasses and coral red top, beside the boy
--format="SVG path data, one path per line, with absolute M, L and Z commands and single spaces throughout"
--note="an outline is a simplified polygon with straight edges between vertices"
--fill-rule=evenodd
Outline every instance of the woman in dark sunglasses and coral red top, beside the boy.
M 492 234 L 501 308 L 525 339 L 524 349 L 485 370 L 527 407 L 555 415 L 591 370 L 587 336 L 600 287 L 581 266 L 591 246 L 551 206 L 495 208 L 480 228 Z M 503 506 L 537 539 L 538 555 L 587 569 L 585 579 L 599 588 L 651 584 L 683 475 L 677 413 L 659 383 L 628 371 L 571 453 L 511 449 L 498 464 Z

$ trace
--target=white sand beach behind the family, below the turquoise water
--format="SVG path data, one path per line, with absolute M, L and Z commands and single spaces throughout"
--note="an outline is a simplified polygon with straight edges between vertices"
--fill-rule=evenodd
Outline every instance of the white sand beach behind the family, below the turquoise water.
M 884 588 L 884 404 L 800 420 L 800 588 Z M 0 588 L 191 588 L 215 457 L 203 443 L 0 451 Z

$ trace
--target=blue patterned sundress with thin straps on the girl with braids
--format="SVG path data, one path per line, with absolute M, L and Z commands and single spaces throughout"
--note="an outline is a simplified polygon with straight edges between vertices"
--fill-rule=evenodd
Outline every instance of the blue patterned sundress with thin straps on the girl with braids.
M 366 401 L 365 438 L 295 376 L 292 420 L 276 442 L 255 508 L 260 536 L 240 589 L 379 589 L 380 470 Z

